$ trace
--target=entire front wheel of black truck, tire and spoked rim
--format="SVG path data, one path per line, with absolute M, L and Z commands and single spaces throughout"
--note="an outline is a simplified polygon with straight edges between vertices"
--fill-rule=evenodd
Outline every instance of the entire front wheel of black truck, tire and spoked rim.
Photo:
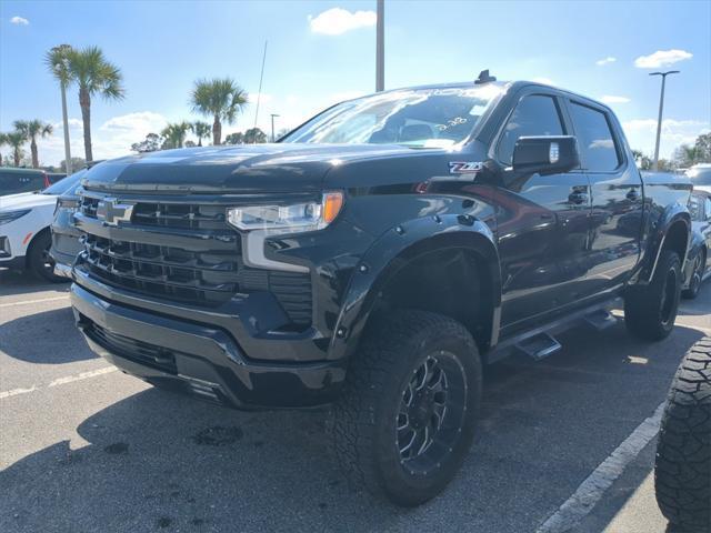
M 474 436 L 481 363 L 467 329 L 401 311 L 367 333 L 333 408 L 336 456 L 358 485 L 414 506 L 439 494 Z

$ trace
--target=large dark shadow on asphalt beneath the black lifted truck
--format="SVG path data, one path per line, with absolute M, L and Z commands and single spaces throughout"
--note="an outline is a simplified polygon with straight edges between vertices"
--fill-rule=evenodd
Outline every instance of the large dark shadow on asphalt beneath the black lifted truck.
M 349 487 L 322 412 L 243 413 L 149 389 L 86 419 L 77 442 L 6 467 L 0 530 L 534 531 L 664 400 L 700 336 L 678 328 L 643 344 L 623 324 L 578 329 L 545 361 L 492 366 L 478 443 L 414 510 Z

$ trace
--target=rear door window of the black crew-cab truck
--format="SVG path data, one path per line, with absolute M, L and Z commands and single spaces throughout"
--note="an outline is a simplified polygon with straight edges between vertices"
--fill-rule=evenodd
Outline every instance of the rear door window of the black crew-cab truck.
M 620 157 L 605 113 L 571 102 L 570 114 L 583 168 L 590 172 L 610 172 L 617 169 Z

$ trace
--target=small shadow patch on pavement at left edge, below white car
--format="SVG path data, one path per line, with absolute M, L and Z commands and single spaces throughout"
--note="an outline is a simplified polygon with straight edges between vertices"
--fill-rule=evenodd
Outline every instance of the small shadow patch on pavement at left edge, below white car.
M 0 324 L 0 351 L 36 364 L 96 359 L 74 326 L 71 308 L 29 314 Z

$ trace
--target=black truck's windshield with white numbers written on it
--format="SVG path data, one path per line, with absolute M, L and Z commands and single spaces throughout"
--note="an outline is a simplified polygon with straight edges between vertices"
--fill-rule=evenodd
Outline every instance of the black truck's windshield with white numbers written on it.
M 487 84 L 373 94 L 334 105 L 282 142 L 448 147 L 471 133 L 502 91 L 501 86 Z

